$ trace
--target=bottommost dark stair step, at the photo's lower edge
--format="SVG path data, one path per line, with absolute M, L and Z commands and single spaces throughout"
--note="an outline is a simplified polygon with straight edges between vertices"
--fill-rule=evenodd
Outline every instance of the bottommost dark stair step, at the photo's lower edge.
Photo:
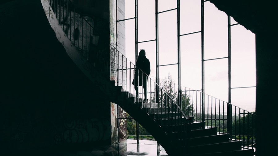
M 241 149 L 225 152 L 205 153 L 205 154 L 191 154 L 191 156 L 254 156 L 254 150 Z

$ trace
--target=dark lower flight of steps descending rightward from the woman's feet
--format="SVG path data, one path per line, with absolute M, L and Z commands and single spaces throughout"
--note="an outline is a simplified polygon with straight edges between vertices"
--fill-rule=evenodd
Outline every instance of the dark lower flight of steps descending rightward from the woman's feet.
M 205 127 L 205 122 L 196 122 L 192 116 L 184 117 L 181 112 L 172 112 L 167 107 L 159 107 L 158 103 L 136 102 L 136 104 L 161 126 L 175 146 L 184 150 L 183 155 L 253 156 L 254 154 L 253 150 L 243 149 L 241 141 L 230 140 L 228 133 L 218 134 L 217 127 Z

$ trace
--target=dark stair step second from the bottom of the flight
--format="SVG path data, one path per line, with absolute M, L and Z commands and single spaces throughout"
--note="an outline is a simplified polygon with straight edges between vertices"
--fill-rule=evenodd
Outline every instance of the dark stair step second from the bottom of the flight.
M 191 154 L 204 154 L 204 153 L 215 153 L 215 152 L 227 152 L 233 150 L 241 150 L 241 141 L 228 140 L 226 142 L 211 143 L 198 146 L 187 147 Z M 187 144 L 188 145 L 188 144 Z M 190 144 L 189 144 L 190 145 Z M 202 149 L 202 150 L 200 150 Z

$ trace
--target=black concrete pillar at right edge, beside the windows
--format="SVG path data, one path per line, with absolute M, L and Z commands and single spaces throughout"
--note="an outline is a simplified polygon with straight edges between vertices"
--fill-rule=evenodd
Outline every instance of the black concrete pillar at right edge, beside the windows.
M 278 155 L 277 35 L 256 34 L 256 156 Z

